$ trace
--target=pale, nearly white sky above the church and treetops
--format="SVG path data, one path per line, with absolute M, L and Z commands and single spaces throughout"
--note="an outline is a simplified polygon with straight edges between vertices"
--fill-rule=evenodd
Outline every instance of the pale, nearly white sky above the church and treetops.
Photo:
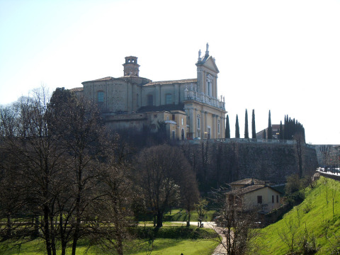
M 285 115 L 306 142 L 340 145 L 340 0 L 0 0 L 0 105 L 45 86 L 122 77 L 196 78 L 198 50 L 215 57 L 231 136 L 255 111 L 256 132 Z

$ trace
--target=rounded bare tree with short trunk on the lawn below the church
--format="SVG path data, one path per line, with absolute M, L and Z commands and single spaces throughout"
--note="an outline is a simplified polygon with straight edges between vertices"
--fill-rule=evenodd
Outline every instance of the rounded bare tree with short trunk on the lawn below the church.
M 159 145 L 142 150 L 135 171 L 136 183 L 157 218 L 156 227 L 162 227 L 164 212 L 180 201 L 181 184 L 187 181 L 185 173 L 191 166 L 179 148 Z

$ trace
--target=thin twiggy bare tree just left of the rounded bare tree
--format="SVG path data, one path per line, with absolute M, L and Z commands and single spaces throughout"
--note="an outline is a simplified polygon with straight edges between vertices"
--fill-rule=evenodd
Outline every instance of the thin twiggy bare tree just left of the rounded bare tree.
M 102 171 L 99 188 L 102 196 L 89 205 L 91 211 L 97 211 L 96 220 L 91 222 L 94 232 L 90 237 L 105 251 L 123 255 L 128 245 L 126 241 L 130 239 L 128 227 L 132 225 L 132 172 L 126 162 L 119 162 L 113 157 L 112 147 L 107 154 L 99 166 Z

